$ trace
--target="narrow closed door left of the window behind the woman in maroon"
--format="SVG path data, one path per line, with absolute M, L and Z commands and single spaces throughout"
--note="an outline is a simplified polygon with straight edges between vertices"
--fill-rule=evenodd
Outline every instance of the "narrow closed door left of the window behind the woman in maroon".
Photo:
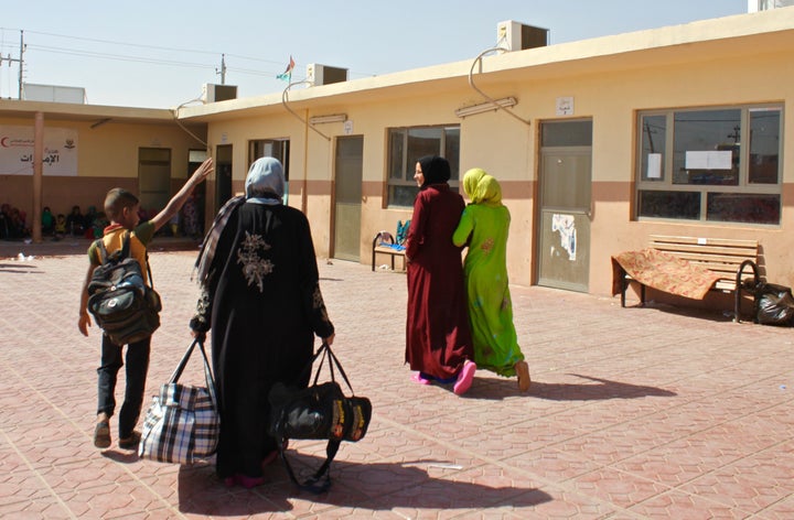
M 336 139 L 334 158 L 334 258 L 361 261 L 361 207 L 364 138 Z

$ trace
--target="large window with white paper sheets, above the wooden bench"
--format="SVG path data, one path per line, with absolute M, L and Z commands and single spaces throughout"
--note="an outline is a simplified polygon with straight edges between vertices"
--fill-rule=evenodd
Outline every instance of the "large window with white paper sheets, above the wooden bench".
M 783 108 L 640 112 L 637 217 L 780 224 Z

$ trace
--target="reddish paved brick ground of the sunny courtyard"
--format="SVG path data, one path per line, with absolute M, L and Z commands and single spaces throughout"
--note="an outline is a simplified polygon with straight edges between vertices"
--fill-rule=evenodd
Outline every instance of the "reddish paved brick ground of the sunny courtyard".
M 96 449 L 99 335 L 76 328 L 86 246 L 0 242 L 3 519 L 794 518 L 792 329 L 513 288 L 532 390 L 481 371 L 458 398 L 409 381 L 405 275 L 343 261 L 321 260 L 321 286 L 335 351 L 375 411 L 329 494 L 296 490 L 278 465 L 265 486 L 227 489 L 212 461 Z M 150 394 L 189 345 L 196 296 L 194 245 L 154 246 L 165 308 Z M 197 382 L 198 365 L 189 371 Z M 305 470 L 322 451 L 290 454 Z

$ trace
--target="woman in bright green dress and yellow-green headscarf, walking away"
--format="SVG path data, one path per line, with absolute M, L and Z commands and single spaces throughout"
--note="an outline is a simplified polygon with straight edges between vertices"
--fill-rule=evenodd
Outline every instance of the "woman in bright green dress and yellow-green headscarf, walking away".
M 452 236 L 455 246 L 469 246 L 463 271 L 469 295 L 469 322 L 474 361 L 500 376 L 518 378 L 518 389 L 529 389 L 529 368 L 513 325 L 513 304 L 507 286 L 507 234 L 509 210 L 502 204 L 498 182 L 482 169 L 463 177 L 471 201 Z

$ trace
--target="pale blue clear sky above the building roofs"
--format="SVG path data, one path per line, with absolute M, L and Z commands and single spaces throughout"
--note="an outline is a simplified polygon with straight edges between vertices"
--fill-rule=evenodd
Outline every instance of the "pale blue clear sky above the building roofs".
M 194 105 L 204 84 L 238 97 L 281 93 L 310 63 L 348 79 L 474 59 L 514 20 L 551 45 L 742 14 L 747 0 L 35 0 L 0 10 L 0 98 L 23 82 L 81 87 L 90 105 Z M 10 59 L 9 59 L 10 58 Z M 225 63 L 225 75 L 222 75 Z M 294 88 L 294 87 L 293 87 Z

